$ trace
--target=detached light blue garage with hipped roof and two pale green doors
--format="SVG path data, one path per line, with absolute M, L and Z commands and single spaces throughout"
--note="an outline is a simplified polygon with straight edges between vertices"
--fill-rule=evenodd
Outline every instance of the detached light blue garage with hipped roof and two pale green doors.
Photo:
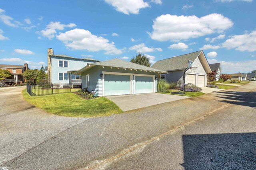
M 157 75 L 167 73 L 155 68 L 112 59 L 91 63 L 76 72 L 82 76 L 82 88 L 95 90 L 98 96 L 157 92 Z

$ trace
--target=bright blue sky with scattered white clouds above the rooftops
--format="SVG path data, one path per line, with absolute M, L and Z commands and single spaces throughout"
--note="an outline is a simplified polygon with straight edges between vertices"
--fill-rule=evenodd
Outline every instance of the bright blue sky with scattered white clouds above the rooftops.
M 0 63 L 55 54 L 155 61 L 204 50 L 225 73 L 256 70 L 255 0 L 2 0 Z

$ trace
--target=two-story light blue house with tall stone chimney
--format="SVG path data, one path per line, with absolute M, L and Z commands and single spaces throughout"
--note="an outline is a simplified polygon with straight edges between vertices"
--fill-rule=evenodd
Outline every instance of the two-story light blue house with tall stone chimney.
M 87 64 L 98 62 L 98 60 L 85 58 L 74 58 L 68 55 L 54 55 L 53 49 L 48 49 L 47 75 L 48 82 L 53 84 L 79 83 L 81 76 L 75 75 L 76 71 Z

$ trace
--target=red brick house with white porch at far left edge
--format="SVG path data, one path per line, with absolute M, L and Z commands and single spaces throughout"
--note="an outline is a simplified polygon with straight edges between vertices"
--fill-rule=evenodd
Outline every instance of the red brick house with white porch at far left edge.
M 0 69 L 8 70 L 12 73 L 12 76 L 7 77 L 4 80 L 6 84 L 17 84 L 17 83 L 24 83 L 25 79 L 22 76 L 22 73 L 28 70 L 28 64 L 25 63 L 24 65 L 9 65 L 9 64 L 0 64 Z

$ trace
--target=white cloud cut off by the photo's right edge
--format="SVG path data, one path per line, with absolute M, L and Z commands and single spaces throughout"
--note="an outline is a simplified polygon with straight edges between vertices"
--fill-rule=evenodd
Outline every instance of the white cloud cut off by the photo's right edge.
M 238 51 L 256 51 L 256 30 L 243 35 L 234 35 L 222 43 L 222 47 Z

